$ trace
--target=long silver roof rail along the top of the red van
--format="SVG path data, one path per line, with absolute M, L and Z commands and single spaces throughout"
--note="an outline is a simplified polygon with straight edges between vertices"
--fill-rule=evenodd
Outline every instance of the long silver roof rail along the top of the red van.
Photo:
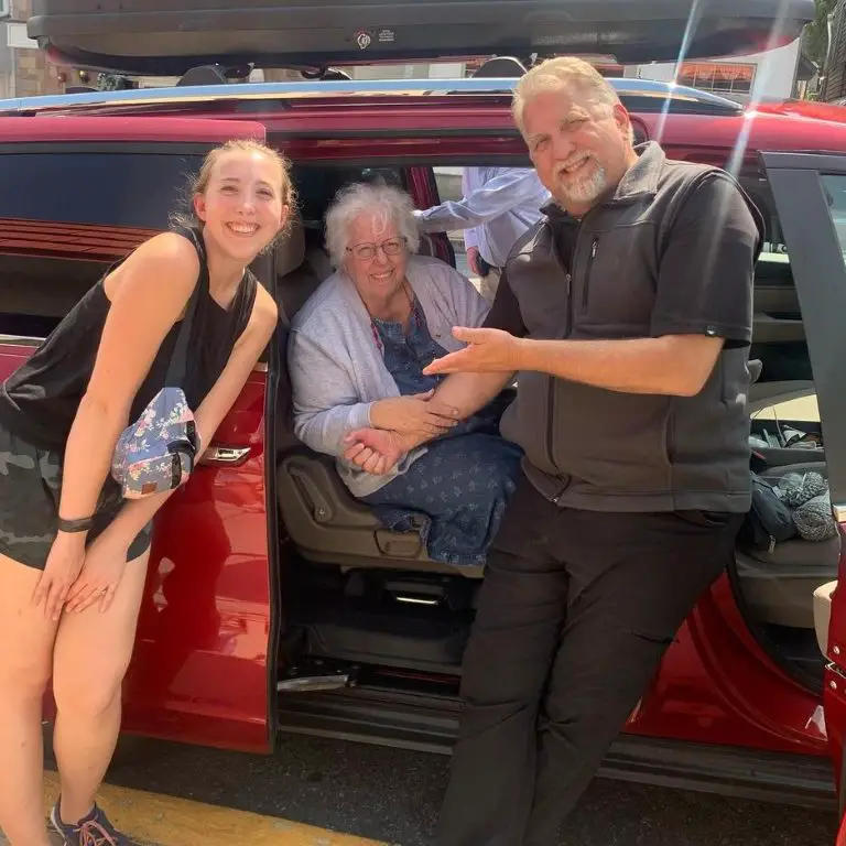
M 191 80 L 187 80 L 191 82 Z M 172 110 L 181 101 L 192 106 L 204 102 L 231 101 L 243 110 L 256 109 L 257 101 L 273 108 L 286 108 L 305 99 L 321 97 L 403 97 L 433 96 L 462 97 L 475 95 L 510 96 L 516 78 L 460 78 L 460 79 L 340 79 L 295 80 L 284 83 L 229 83 L 218 78 L 213 84 L 184 84 L 167 88 L 135 88 L 129 90 L 100 90 L 83 94 L 58 94 L 41 97 L 18 97 L 0 100 L 0 115 L 68 113 L 85 111 L 120 110 L 133 112 Z M 674 83 L 651 79 L 614 78 L 615 87 L 627 108 L 633 111 L 660 112 L 672 110 L 691 115 L 737 115 L 744 107 L 725 97 Z

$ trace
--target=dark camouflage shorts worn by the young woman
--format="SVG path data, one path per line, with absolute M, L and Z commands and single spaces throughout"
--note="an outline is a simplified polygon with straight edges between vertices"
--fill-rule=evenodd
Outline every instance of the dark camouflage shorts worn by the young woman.
M 28 567 L 44 570 L 58 531 L 58 501 L 62 490 L 62 456 L 39 449 L 0 426 L 0 554 Z M 117 482 L 104 485 L 88 541 L 101 534 L 123 506 Z M 130 544 L 127 561 L 150 547 L 152 524 L 148 523 Z

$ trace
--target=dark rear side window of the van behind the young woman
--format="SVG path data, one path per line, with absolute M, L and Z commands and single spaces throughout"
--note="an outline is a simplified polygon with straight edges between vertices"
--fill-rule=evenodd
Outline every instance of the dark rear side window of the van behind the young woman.
M 155 231 L 203 161 L 195 144 L 0 144 L 0 334 L 43 338 Z

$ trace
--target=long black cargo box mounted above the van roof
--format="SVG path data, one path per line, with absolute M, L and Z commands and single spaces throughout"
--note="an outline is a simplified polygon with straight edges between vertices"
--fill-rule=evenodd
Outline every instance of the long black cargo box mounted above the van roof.
M 34 0 L 28 31 L 61 64 L 180 76 L 215 63 L 725 56 L 793 41 L 813 15 L 814 0 Z

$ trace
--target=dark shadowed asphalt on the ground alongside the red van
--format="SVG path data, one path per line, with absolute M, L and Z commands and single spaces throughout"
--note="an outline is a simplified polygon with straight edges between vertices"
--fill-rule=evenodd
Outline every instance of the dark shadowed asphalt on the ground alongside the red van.
M 132 739 L 119 748 L 108 780 L 429 846 L 447 766 L 445 756 L 294 735 L 283 736 L 272 757 Z M 560 846 L 833 846 L 835 822 L 831 812 L 601 779 L 567 822 Z M 231 842 L 249 840 L 236 834 Z

